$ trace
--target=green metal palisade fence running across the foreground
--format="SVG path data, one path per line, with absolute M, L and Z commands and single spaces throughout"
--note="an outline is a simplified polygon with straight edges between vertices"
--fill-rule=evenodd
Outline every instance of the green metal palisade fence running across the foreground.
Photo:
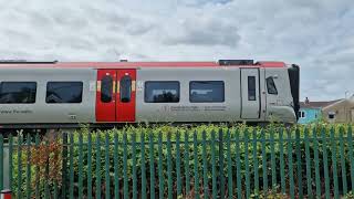
M 353 135 L 351 127 L 0 135 L 4 178 L 0 189 L 17 198 L 340 198 L 354 189 Z

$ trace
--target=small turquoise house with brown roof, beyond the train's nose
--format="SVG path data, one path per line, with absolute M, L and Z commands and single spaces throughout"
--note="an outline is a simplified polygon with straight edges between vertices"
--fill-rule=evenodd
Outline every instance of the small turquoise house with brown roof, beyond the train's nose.
M 341 100 L 329 102 L 310 102 L 306 97 L 304 102 L 300 103 L 299 121 L 300 124 L 309 124 L 322 118 L 322 108 L 334 104 Z

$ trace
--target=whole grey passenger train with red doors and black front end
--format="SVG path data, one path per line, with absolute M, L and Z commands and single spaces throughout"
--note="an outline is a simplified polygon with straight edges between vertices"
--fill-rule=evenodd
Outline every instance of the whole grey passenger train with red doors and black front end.
M 296 123 L 283 62 L 0 62 L 0 129 L 126 123 Z

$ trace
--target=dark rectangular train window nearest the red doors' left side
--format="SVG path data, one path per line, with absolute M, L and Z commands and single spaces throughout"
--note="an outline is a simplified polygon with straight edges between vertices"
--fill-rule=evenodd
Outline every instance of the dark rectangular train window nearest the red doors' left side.
M 82 82 L 49 82 L 46 84 L 46 103 L 81 103 Z

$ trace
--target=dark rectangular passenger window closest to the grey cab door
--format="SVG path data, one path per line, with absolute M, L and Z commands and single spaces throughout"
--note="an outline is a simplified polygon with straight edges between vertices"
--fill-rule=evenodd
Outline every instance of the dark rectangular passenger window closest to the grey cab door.
M 222 81 L 194 81 L 189 83 L 189 101 L 191 103 L 217 103 L 225 101 Z

